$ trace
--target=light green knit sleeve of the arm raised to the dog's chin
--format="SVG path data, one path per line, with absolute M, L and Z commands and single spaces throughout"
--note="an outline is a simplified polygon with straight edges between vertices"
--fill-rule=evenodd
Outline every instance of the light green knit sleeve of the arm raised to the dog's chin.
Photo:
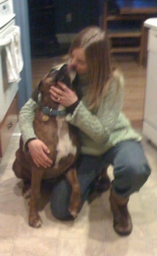
M 66 120 L 77 126 L 93 141 L 97 143 L 106 142 L 115 128 L 121 111 L 123 85 L 123 77 L 110 81 L 107 95 L 97 114 L 92 114 L 82 99 L 73 114 L 66 116 Z

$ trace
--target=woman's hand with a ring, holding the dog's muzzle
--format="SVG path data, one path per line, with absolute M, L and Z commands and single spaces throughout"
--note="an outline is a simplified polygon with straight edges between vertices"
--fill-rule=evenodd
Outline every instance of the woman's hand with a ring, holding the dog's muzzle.
M 64 83 L 58 82 L 60 88 L 51 86 L 51 99 L 55 102 L 60 102 L 64 106 L 70 106 L 78 100 L 74 91 L 69 89 Z

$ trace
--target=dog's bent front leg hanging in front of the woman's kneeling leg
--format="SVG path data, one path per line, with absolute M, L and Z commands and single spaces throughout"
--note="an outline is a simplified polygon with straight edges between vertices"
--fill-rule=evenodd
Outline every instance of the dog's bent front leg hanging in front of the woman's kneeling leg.
M 81 208 L 81 188 L 77 179 L 76 169 L 70 168 L 65 173 L 66 179 L 72 187 L 72 193 L 70 197 L 69 211 L 71 215 L 76 218 L 78 211 Z

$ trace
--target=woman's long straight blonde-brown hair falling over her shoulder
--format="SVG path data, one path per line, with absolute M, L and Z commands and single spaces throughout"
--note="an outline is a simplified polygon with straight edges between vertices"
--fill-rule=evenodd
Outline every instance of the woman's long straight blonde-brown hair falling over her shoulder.
M 90 75 L 86 98 L 88 109 L 97 110 L 108 90 L 108 80 L 113 74 L 110 45 L 105 31 L 97 26 L 87 27 L 73 39 L 69 54 L 75 48 L 83 47 Z

